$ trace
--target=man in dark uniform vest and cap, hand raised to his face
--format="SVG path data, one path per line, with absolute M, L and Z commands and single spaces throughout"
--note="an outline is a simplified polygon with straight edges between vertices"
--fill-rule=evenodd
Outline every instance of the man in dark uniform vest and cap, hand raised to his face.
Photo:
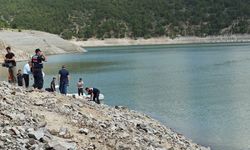
M 39 48 L 35 50 L 35 53 L 31 59 L 34 88 L 41 90 L 43 88 L 43 61 L 47 61 L 47 58 Z

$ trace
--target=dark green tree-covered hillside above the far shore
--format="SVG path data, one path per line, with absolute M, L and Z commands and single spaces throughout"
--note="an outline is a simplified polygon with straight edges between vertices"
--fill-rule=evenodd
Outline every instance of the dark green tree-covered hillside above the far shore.
M 1 0 L 0 28 L 65 39 L 250 33 L 249 0 Z

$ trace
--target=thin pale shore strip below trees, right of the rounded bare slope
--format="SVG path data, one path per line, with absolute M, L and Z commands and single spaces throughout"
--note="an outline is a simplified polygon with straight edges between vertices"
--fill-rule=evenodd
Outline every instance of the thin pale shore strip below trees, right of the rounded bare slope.
M 208 37 L 176 37 L 171 39 L 169 37 L 159 38 L 109 38 L 109 39 L 95 39 L 91 38 L 87 41 L 70 40 L 71 43 L 81 47 L 100 47 L 100 46 L 129 46 L 129 45 L 161 45 L 161 44 L 198 44 L 198 43 L 247 43 L 250 42 L 250 35 L 228 35 L 228 36 L 208 36 Z

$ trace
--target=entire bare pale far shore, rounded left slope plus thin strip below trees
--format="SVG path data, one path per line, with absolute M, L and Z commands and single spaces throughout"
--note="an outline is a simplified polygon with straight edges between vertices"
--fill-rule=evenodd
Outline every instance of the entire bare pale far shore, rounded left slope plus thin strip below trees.
M 4 60 L 5 47 L 10 46 L 17 61 L 28 60 L 36 48 L 40 48 L 46 55 L 65 53 L 82 53 L 86 47 L 129 46 L 129 45 L 167 45 L 167 44 L 211 44 L 211 43 L 250 43 L 250 34 L 207 36 L 207 37 L 169 37 L 158 38 L 91 38 L 86 41 L 73 39 L 64 40 L 59 35 L 34 30 L 1 30 L 0 31 L 0 63 Z

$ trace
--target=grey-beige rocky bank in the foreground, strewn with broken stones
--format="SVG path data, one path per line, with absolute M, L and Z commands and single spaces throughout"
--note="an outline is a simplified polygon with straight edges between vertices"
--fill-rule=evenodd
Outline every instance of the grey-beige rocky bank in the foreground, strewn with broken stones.
M 2 150 L 208 150 L 125 107 L 0 82 Z

